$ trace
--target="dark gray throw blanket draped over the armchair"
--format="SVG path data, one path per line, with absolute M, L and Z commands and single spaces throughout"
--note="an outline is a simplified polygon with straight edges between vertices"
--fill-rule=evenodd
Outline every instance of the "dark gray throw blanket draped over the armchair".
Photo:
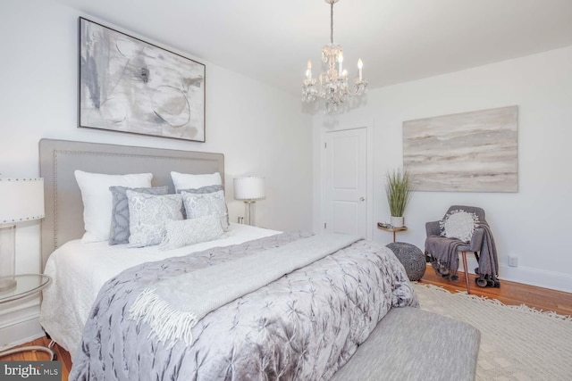
M 483 243 L 478 248 L 479 267 L 477 272 L 480 279 L 490 279 L 492 285 L 498 286 L 499 260 L 497 248 L 494 244 L 491 228 L 486 222 L 480 222 L 475 229 L 484 231 Z M 428 236 L 425 240 L 425 252 L 431 255 L 433 268 L 440 274 L 446 275 L 448 272 L 455 276 L 458 270 L 458 248 L 468 244 L 457 239 L 444 236 Z

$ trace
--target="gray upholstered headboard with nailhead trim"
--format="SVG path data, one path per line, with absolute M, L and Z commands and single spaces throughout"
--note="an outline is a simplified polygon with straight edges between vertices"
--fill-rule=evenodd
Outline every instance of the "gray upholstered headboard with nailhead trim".
M 223 153 L 199 153 L 128 145 L 104 145 L 42 139 L 39 142 L 40 176 L 44 178 L 46 218 L 42 220 L 42 269 L 56 248 L 83 236 L 83 203 L 74 170 L 121 175 L 153 173 L 153 186 L 174 186 L 171 171 L 220 172 L 224 181 Z

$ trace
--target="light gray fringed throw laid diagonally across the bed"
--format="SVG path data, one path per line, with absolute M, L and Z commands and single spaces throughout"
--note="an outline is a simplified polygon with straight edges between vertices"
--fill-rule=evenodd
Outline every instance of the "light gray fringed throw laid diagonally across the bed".
M 249 255 L 242 261 L 223 262 L 164 279 L 139 294 L 130 307 L 130 319 L 147 323 L 153 336 L 168 346 L 176 340 L 190 345 L 192 327 L 208 312 L 359 239 L 342 234 L 310 236 Z

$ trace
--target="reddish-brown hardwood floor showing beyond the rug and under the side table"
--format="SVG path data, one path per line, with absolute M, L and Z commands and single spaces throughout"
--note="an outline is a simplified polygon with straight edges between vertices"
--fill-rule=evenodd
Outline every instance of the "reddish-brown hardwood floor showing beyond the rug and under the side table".
M 437 276 L 433 268 L 427 266 L 425 276 L 420 282 L 441 286 L 451 293 L 467 291 L 465 275 L 459 272 L 458 277 L 458 282 L 451 282 L 448 279 Z M 520 283 L 509 282 L 508 280 L 501 280 L 501 288 L 481 288 L 475 285 L 475 276 L 469 274 L 469 277 L 471 282 L 471 294 L 498 299 L 505 304 L 520 305 L 524 303 L 529 307 L 534 307 L 536 310 L 554 311 L 560 315 L 572 316 L 572 294 L 554 291 L 548 288 L 527 286 Z M 24 345 L 47 346 L 47 344 L 49 344 L 49 339 L 47 339 L 47 337 L 41 337 Z M 71 369 L 70 353 L 63 350 L 63 348 L 57 344 L 55 344 L 53 349 L 57 354 L 57 360 L 62 361 L 62 380 L 67 380 Z M 47 355 L 43 352 L 25 352 L 2 358 L 2 360 L 16 361 L 46 359 Z

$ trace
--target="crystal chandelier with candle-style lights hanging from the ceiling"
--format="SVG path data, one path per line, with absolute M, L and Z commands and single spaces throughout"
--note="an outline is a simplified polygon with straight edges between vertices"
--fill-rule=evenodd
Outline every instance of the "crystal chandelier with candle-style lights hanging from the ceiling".
M 340 45 L 333 43 L 333 4 L 339 0 L 324 0 L 330 4 L 330 44 L 322 49 L 322 62 L 326 71 L 320 73 L 317 79 L 312 77 L 312 62 L 308 60 L 306 79 L 302 84 L 302 102 L 315 102 L 324 99 L 325 112 L 337 112 L 344 102 L 366 92 L 367 81 L 362 78 L 364 66 L 361 59 L 357 60 L 358 78 L 354 86 L 348 87 L 348 70 L 343 69 L 343 52 Z

